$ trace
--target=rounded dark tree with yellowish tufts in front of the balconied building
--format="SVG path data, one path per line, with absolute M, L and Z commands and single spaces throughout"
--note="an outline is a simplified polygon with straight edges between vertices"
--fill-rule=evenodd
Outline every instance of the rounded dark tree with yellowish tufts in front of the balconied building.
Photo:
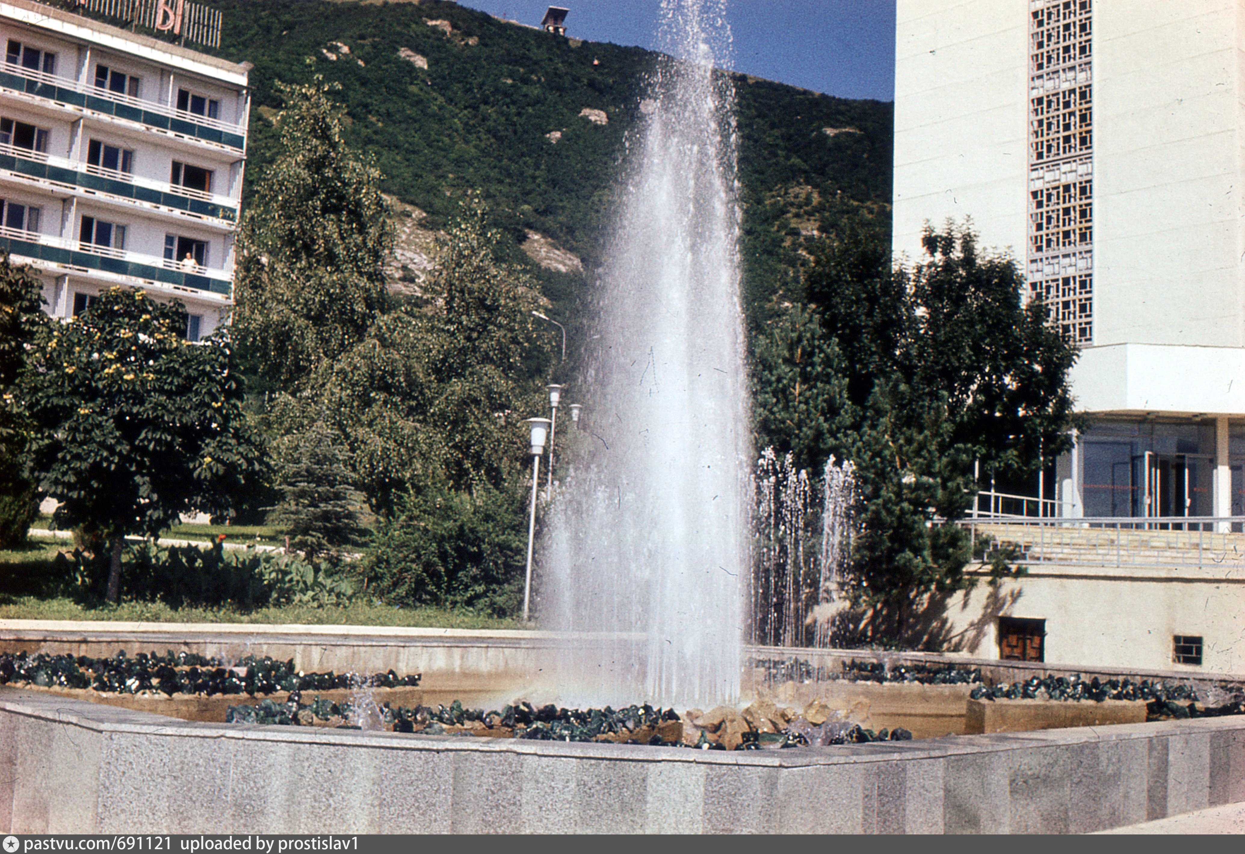
M 195 510 L 228 517 L 230 495 L 260 466 L 229 339 L 190 344 L 186 317 L 177 303 L 111 289 L 50 324 L 24 372 L 32 477 L 60 502 L 56 527 L 107 542 L 111 601 L 127 534 L 157 537 Z

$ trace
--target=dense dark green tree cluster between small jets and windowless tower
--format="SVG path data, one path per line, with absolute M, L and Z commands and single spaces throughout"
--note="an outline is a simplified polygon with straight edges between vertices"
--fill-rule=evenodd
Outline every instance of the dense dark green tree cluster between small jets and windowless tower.
M 848 591 L 874 635 L 913 637 L 924 598 L 969 581 L 974 466 L 1027 478 L 1069 447 L 1077 426 L 1068 370 L 1076 347 L 1025 301 L 1013 259 L 977 246 L 971 228 L 924 235 L 925 258 L 891 266 L 880 235 L 828 246 L 806 278 L 812 320 L 794 309 L 757 346 L 758 441 L 820 471 L 853 461 L 859 535 Z M 810 359 L 832 352 L 838 357 Z M 819 421 L 794 406 L 825 401 Z M 835 407 L 838 407 L 835 410 Z M 789 447 L 788 447 L 789 446 Z

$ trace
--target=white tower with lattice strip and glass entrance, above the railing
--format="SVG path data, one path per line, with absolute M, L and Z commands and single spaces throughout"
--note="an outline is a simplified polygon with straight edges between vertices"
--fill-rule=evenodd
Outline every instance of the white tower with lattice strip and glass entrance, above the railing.
M 971 217 L 1081 346 L 1078 517 L 1241 515 L 1245 5 L 898 0 L 894 245 Z

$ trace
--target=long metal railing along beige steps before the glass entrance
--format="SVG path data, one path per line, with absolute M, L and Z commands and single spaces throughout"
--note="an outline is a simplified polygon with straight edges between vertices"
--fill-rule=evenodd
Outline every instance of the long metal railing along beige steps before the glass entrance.
M 974 560 L 1133 569 L 1215 569 L 1245 579 L 1245 517 L 960 519 Z M 1225 575 L 1226 573 L 1226 575 Z

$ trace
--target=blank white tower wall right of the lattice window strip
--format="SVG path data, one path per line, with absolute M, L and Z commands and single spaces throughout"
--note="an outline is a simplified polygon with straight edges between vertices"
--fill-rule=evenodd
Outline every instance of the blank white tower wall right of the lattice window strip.
M 1094 344 L 1241 346 L 1241 6 L 1094 2 Z

